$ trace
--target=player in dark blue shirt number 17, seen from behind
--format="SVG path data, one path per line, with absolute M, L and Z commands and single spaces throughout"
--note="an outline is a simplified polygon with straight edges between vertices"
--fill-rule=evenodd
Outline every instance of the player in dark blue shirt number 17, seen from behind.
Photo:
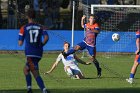
M 27 57 L 27 62 L 24 67 L 24 74 L 27 83 L 27 93 L 33 93 L 31 73 L 42 90 L 42 93 L 47 93 L 44 82 L 39 74 L 38 63 L 43 54 L 43 46 L 48 41 L 48 34 L 46 30 L 43 30 L 43 26 L 35 23 L 35 11 L 31 9 L 28 10 L 27 18 L 28 23 L 20 28 L 18 41 L 19 46 L 22 46 L 25 40 L 25 55 Z M 44 37 L 43 40 L 42 37 Z

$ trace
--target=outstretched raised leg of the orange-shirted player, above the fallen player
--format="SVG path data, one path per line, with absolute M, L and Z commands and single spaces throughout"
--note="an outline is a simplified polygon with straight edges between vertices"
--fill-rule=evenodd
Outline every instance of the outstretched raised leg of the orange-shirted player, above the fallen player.
M 73 49 L 70 49 L 67 53 L 63 52 L 62 54 L 63 54 L 64 57 L 66 57 L 66 56 L 68 56 L 70 54 L 75 53 L 78 50 L 83 50 L 85 48 L 86 48 L 85 42 L 81 42 L 81 43 L 77 44 Z

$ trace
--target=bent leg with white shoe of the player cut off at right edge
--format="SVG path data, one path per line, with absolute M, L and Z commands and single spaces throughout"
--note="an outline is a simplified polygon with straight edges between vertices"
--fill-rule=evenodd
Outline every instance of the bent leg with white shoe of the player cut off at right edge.
M 134 79 L 134 76 L 136 74 L 137 67 L 138 67 L 139 64 L 140 64 L 140 55 L 136 55 L 134 64 L 133 64 L 133 66 L 131 68 L 129 79 L 126 79 L 127 82 L 129 82 L 130 84 L 133 83 L 133 79 Z

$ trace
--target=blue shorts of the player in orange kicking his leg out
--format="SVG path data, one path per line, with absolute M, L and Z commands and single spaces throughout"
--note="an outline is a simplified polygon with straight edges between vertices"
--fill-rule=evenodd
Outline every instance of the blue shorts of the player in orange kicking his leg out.
M 77 45 L 81 47 L 81 50 L 87 49 L 91 56 L 96 56 L 96 47 L 91 47 L 87 45 L 85 42 L 80 42 Z

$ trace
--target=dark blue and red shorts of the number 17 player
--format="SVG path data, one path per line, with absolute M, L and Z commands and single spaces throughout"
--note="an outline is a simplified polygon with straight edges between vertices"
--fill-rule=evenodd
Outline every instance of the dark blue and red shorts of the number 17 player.
M 37 57 L 27 57 L 26 66 L 29 67 L 29 69 L 31 71 L 39 70 L 38 63 L 39 63 L 40 59 L 41 58 L 37 58 Z

